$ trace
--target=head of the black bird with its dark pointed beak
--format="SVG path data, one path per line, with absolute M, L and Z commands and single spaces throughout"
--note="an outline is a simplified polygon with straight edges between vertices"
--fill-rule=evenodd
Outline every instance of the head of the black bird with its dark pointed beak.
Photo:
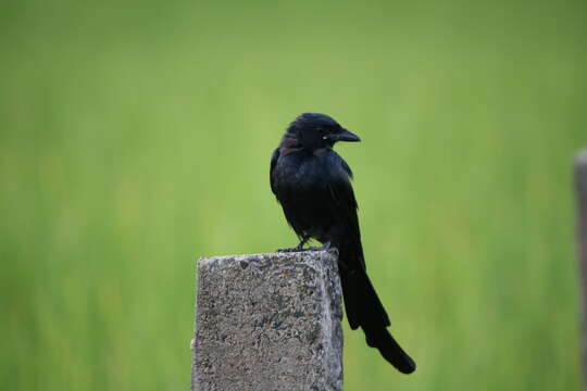
M 310 150 L 332 148 L 337 141 L 361 141 L 359 136 L 345 129 L 334 118 L 319 113 L 299 115 L 289 124 L 286 137 Z

